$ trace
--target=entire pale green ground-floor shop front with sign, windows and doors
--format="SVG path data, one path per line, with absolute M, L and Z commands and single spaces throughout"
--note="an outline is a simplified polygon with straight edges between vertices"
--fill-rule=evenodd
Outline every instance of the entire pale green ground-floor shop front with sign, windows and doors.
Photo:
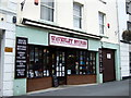
M 94 84 L 120 77 L 119 46 L 103 42 L 102 47 L 98 38 L 17 26 L 16 56 L 15 96 L 59 85 Z M 106 62 L 112 65 L 109 71 Z

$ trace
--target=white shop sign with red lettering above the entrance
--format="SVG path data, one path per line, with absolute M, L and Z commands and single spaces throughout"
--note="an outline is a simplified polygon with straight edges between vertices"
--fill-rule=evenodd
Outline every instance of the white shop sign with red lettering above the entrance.
M 49 44 L 70 48 L 87 49 L 87 40 L 50 34 Z

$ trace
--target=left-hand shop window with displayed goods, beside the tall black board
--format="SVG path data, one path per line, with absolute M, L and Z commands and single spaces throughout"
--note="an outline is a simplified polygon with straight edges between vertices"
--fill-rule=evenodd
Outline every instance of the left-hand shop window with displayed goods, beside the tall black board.
M 50 76 L 49 50 L 44 47 L 29 46 L 27 77 Z

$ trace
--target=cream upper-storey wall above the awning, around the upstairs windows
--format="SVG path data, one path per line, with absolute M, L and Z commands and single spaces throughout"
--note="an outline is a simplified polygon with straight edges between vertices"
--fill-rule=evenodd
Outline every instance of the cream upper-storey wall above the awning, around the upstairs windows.
M 83 5 L 82 29 L 73 27 L 73 1 Z M 116 0 L 106 0 L 106 4 L 100 0 L 55 0 L 53 23 L 40 20 L 40 0 L 38 5 L 34 4 L 34 0 L 26 0 L 23 11 L 21 11 L 21 2 L 22 0 L 17 1 L 17 24 L 26 17 L 94 35 L 99 35 L 98 12 L 103 12 L 106 14 L 106 33 L 103 36 L 107 37 L 103 38 L 103 41 L 118 44 Z M 110 28 L 107 28 L 107 23 L 110 24 Z

